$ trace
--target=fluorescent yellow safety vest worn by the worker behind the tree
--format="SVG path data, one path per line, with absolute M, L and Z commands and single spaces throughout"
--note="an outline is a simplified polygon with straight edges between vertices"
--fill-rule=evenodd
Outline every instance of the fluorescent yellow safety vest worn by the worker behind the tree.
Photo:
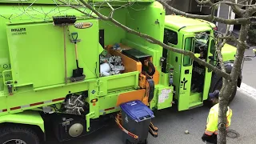
M 228 110 L 226 112 L 226 128 L 230 126 L 232 117 L 232 110 L 228 106 Z M 218 133 L 218 104 L 214 105 L 209 112 L 207 118 L 207 125 L 205 134 L 212 135 Z

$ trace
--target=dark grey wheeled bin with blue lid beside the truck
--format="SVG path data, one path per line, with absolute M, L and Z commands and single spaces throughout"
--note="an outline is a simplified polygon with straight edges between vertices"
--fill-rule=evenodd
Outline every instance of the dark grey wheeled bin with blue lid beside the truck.
M 120 107 L 122 109 L 122 126 L 138 136 L 138 138 L 133 138 L 130 134 L 123 132 L 123 142 L 125 144 L 146 143 L 151 118 L 154 118 L 153 111 L 138 100 L 123 103 Z

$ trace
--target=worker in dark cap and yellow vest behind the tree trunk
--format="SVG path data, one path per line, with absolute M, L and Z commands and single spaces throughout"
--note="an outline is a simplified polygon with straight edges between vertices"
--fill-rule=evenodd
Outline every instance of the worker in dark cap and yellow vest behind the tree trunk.
M 214 90 L 213 93 L 209 94 L 209 97 L 214 102 L 214 106 L 210 108 L 210 112 L 208 114 L 206 130 L 202 135 L 203 142 L 210 142 L 210 143 L 217 144 L 218 94 L 219 94 L 219 90 Z M 228 106 L 228 110 L 226 112 L 226 129 L 230 126 L 231 117 L 232 117 L 232 110 Z

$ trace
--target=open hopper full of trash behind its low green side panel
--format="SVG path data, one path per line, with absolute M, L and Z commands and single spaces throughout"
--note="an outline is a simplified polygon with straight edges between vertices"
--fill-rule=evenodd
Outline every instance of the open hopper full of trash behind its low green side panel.
M 130 49 L 122 44 L 106 46 L 100 54 L 100 95 L 138 88 L 139 74 L 142 63 L 122 54 L 122 50 Z

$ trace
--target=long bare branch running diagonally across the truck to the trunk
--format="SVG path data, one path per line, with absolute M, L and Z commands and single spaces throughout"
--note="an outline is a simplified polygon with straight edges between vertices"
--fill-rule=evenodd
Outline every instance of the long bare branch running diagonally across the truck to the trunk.
M 58 0 L 58 1 L 63 2 L 62 0 Z M 229 74 L 226 74 L 222 70 L 219 70 L 217 67 L 210 65 L 210 63 L 204 62 L 200 58 L 195 57 L 194 53 L 192 53 L 191 51 L 176 49 L 174 47 L 164 44 L 163 42 L 156 40 L 155 38 L 150 37 L 149 35 L 142 34 L 135 30 L 132 30 L 129 27 L 122 25 L 120 22 L 116 21 L 114 18 L 106 17 L 106 16 L 100 14 L 97 10 L 94 10 L 94 8 L 92 6 L 90 6 L 87 2 L 85 2 L 83 0 L 79 0 L 79 1 L 82 2 L 82 4 L 84 6 L 86 6 L 88 9 L 92 10 L 94 12 L 94 14 L 98 15 L 98 17 L 101 18 L 102 20 L 113 22 L 114 25 L 122 28 L 122 30 L 126 30 L 130 34 L 136 34 L 136 35 L 140 36 L 141 38 L 145 38 L 146 41 L 157 44 L 158 46 L 162 46 L 163 48 L 165 48 L 167 50 L 171 50 L 171 51 L 174 51 L 179 54 L 184 54 L 184 55 L 190 56 L 190 58 L 194 59 L 194 61 L 198 62 L 200 65 L 208 67 L 209 69 L 213 70 L 216 74 L 220 74 L 223 78 L 230 79 Z M 64 2 L 64 3 L 66 3 L 66 2 Z M 82 12 L 82 11 L 80 10 L 80 12 Z M 84 12 L 82 12 L 82 14 L 84 14 Z

